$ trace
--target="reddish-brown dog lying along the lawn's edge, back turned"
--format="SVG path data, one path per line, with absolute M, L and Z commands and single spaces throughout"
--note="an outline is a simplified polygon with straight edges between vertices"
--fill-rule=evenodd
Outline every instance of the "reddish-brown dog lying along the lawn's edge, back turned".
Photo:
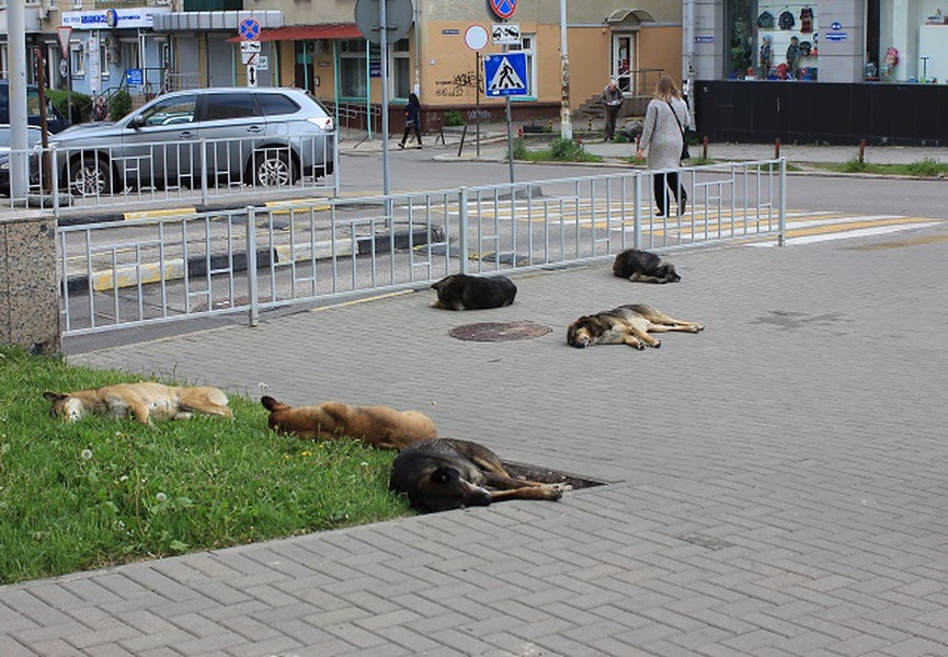
M 347 436 L 382 449 L 403 449 L 412 442 L 437 437 L 437 428 L 424 413 L 388 406 L 350 406 L 323 402 L 318 406 L 287 406 L 272 396 L 260 403 L 270 411 L 266 420 L 279 434 L 329 440 Z

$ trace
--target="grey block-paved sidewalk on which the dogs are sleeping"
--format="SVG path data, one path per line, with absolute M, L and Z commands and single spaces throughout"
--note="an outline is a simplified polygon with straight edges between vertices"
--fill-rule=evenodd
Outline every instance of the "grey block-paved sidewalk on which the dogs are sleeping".
M 496 311 L 421 290 L 70 357 L 420 408 L 608 485 L 0 587 L 0 655 L 948 654 L 948 230 L 667 257 L 682 283 L 603 262 Z M 707 330 L 566 346 L 626 302 Z M 551 332 L 447 335 L 514 320 Z

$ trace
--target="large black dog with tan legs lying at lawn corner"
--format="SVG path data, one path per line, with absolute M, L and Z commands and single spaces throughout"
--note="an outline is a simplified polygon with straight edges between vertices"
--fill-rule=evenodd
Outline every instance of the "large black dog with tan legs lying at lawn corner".
M 503 499 L 559 499 L 569 486 L 512 477 L 498 456 L 468 440 L 415 442 L 395 459 L 388 487 L 422 511 L 487 506 Z

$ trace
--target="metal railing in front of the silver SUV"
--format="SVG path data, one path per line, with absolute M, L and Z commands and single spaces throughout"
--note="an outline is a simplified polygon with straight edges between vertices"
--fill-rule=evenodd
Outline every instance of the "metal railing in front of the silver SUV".
M 275 200 L 311 192 L 335 196 L 335 140 L 336 132 L 214 139 L 195 130 L 193 138 L 176 141 L 145 136 L 139 141 L 132 135 L 121 143 L 52 146 L 45 152 L 37 146 L 9 153 L 8 166 L 28 168 L 30 186 L 25 194 L 7 191 L 0 203 L 49 209 L 58 218 L 253 199 L 262 193 Z

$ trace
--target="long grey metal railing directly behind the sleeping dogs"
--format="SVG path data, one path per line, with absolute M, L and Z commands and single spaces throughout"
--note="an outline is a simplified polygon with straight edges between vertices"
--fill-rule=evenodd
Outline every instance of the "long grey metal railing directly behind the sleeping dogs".
M 685 211 L 655 214 L 677 173 Z M 457 187 L 67 226 L 58 230 L 65 335 L 264 310 L 499 274 L 776 237 L 784 160 Z

